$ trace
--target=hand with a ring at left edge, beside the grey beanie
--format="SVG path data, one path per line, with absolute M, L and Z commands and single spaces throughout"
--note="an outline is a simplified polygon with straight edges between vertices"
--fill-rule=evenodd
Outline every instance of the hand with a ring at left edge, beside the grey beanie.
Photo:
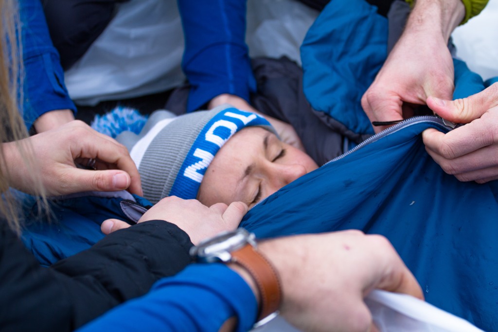
M 118 191 L 128 188 L 142 195 L 140 175 L 126 148 L 109 136 L 98 133 L 81 121 L 72 121 L 58 129 L 45 131 L 18 142 L 4 143 L 4 165 L 10 186 L 35 194 L 37 171 L 39 181 L 49 196 L 83 191 Z M 33 156 L 29 165 L 19 148 Z M 97 170 L 77 168 L 96 160 Z

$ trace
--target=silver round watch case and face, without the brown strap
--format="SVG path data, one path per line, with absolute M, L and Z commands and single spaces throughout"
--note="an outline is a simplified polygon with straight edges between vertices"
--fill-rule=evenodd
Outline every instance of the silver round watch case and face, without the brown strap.
M 229 262 L 232 259 L 230 253 L 242 248 L 247 243 L 255 244 L 254 234 L 249 233 L 244 228 L 238 228 L 202 241 L 191 249 L 190 254 L 196 256 L 201 262 Z

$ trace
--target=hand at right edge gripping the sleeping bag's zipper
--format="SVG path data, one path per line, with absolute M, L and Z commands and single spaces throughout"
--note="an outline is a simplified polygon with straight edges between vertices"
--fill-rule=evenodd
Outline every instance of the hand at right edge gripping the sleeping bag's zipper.
M 425 130 L 422 138 L 432 159 L 460 181 L 485 183 L 498 179 L 498 83 L 456 101 L 430 97 L 427 105 L 450 121 L 470 122 L 447 134 Z

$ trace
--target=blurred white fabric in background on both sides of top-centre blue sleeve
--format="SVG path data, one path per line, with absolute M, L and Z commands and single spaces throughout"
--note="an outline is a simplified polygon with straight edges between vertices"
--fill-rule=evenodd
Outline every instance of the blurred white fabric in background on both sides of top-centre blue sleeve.
M 296 0 L 249 0 L 249 55 L 285 55 L 300 63 L 299 46 L 317 15 Z M 69 95 L 79 105 L 96 105 L 177 87 L 185 80 L 183 49 L 176 0 L 120 4 L 106 30 L 66 71 Z

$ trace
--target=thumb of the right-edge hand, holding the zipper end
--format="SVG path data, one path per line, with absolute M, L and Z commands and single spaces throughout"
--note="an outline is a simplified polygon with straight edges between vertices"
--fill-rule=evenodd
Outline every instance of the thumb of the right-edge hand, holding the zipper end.
M 478 94 L 454 101 L 429 97 L 427 106 L 444 119 L 457 123 L 469 123 L 481 117 L 489 109 L 498 106 L 498 83 Z

